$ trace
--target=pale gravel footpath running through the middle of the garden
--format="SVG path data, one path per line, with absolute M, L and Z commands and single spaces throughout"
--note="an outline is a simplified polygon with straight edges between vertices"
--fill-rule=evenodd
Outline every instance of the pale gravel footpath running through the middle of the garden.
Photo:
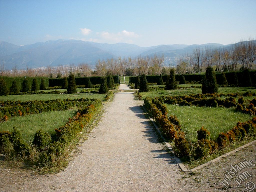
M 128 87 L 121 85 L 120 89 Z M 0 166 L 0 191 L 225 191 L 221 182 L 231 165 L 243 159 L 256 164 L 254 144 L 196 173 L 182 172 L 159 143 L 142 104 L 132 93 L 116 93 L 64 171 L 39 176 Z M 236 174 L 229 182 L 231 191 L 247 191 L 249 181 L 249 189 L 256 184 L 255 166 L 247 169 L 252 177 L 238 188 Z

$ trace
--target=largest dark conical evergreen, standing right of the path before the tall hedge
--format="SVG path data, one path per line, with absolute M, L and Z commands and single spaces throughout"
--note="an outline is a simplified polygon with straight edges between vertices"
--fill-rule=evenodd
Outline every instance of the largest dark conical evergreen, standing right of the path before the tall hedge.
M 216 75 L 212 67 L 206 68 L 206 73 L 202 81 L 202 93 L 217 93 L 218 86 Z

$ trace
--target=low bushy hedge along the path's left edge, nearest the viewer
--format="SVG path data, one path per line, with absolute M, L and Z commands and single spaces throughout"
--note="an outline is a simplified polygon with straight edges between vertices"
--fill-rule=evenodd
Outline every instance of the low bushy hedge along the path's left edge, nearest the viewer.
M 99 100 L 85 103 L 87 105 L 79 109 L 76 116 L 69 119 L 65 126 L 55 130 L 55 140 L 42 130 L 36 132 L 33 145 L 25 143 L 16 128 L 12 133 L 0 133 L 0 153 L 7 158 L 23 157 L 26 164 L 34 167 L 59 167 L 76 147 L 81 132 L 89 131 L 89 124 L 102 106 Z

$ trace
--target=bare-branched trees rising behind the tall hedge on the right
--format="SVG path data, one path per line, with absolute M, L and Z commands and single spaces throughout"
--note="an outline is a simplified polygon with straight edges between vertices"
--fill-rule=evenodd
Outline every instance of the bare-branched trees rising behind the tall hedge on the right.
M 213 66 L 219 72 L 252 70 L 255 60 L 256 40 L 241 41 L 229 47 L 197 47 L 192 54 L 177 59 L 176 72 L 200 74 Z

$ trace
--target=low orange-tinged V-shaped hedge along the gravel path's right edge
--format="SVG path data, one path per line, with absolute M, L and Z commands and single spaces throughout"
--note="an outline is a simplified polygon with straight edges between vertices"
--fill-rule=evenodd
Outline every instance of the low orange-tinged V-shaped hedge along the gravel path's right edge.
M 256 100 L 253 102 L 256 103 Z M 163 98 L 146 98 L 144 106 L 148 114 L 155 119 L 165 138 L 174 141 L 176 155 L 187 160 L 205 158 L 216 150 L 222 150 L 234 141 L 241 141 L 246 136 L 256 136 L 256 118 L 253 118 L 248 122 L 239 122 L 237 126 L 227 133 L 220 133 L 216 141 L 210 140 L 210 132 L 201 127 L 197 132 L 198 142 L 191 143 L 186 139 L 185 133 L 180 130 L 180 123 L 177 117 L 170 116 L 167 118 L 167 108 L 164 105 Z

